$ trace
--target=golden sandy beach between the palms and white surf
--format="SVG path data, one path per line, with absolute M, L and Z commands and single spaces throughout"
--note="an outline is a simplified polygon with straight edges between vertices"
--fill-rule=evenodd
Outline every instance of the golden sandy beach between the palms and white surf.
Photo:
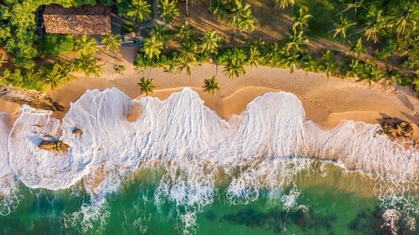
M 102 61 L 110 61 L 109 54 L 99 53 Z M 137 85 L 141 77 L 147 77 L 149 69 L 132 66 L 132 48 L 122 47 L 121 59 L 105 63 L 105 73 L 101 78 L 84 77 L 69 82 L 56 91 L 47 91 L 54 100 L 65 107 L 75 102 L 86 89 L 105 89 L 115 86 L 131 98 L 145 96 L 140 93 Z M 68 58 L 68 57 L 67 57 Z M 114 64 L 123 64 L 126 70 L 123 75 L 115 73 Z M 302 101 L 307 119 L 315 121 L 318 126 L 330 129 L 342 120 L 380 123 L 388 118 L 415 123 L 413 125 L 416 138 L 419 137 L 419 100 L 409 87 L 386 87 L 381 83 L 369 87 L 354 79 L 326 77 L 323 74 L 308 73 L 295 69 L 267 68 L 260 66 L 247 67 L 246 74 L 230 79 L 223 72 L 223 66 L 218 67 L 217 80 L 221 91 L 215 95 L 203 92 L 204 79 L 216 74 L 216 66 L 205 63 L 203 66 L 191 68 L 191 77 L 186 73 L 165 73 L 162 68 L 154 68 L 150 77 L 154 78 L 156 90 L 149 96 L 165 99 L 170 93 L 180 91 L 189 86 L 198 91 L 205 105 L 214 109 L 221 118 L 228 119 L 232 114 L 240 114 L 246 105 L 266 92 L 287 91 L 295 94 Z M 16 112 L 16 105 L 0 103 L 0 111 Z M 129 120 L 138 118 L 140 110 L 135 110 Z M 62 118 L 64 112 L 54 113 L 54 117 Z

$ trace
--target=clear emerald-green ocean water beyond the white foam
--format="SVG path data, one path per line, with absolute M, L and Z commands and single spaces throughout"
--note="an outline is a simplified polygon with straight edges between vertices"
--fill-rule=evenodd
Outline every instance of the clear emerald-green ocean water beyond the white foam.
M 231 205 L 223 185 L 214 202 L 199 210 L 168 199 L 156 203 L 159 179 L 154 169 L 128 177 L 99 213 L 90 213 L 96 215 L 91 220 L 83 220 L 89 213 L 80 213 L 90 203 L 81 184 L 57 191 L 21 186 L 17 209 L 0 217 L 0 234 L 388 234 L 381 227 L 383 210 L 374 193 L 375 182 L 333 165 L 325 176 L 297 174 L 295 185 L 283 189 L 285 194 L 295 189 L 300 194 L 288 210 L 280 198 L 271 197 L 281 190 L 263 189 L 256 201 Z M 196 216 L 196 224 L 185 228 L 183 215 Z M 402 229 L 399 234 L 418 232 Z

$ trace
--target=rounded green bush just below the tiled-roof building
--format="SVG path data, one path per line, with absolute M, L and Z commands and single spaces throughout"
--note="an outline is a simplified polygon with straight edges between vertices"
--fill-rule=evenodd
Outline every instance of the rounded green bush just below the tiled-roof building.
M 58 56 L 71 52 L 73 48 L 73 36 L 70 34 L 47 33 L 39 45 L 39 51 L 45 56 Z

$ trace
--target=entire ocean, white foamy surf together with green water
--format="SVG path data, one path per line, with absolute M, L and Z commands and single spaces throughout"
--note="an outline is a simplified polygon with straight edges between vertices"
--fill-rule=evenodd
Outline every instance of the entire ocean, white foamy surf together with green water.
M 418 151 L 378 125 L 321 130 L 291 93 L 228 121 L 188 88 L 92 90 L 51 114 L 0 114 L 0 234 L 419 233 Z

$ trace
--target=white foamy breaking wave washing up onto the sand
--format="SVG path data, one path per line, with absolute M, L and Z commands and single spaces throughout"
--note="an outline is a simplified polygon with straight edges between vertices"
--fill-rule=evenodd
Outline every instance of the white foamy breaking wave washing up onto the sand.
M 128 121 L 132 107 L 140 107 L 142 114 Z M 379 125 L 342 121 L 333 130 L 321 130 L 304 118 L 302 103 L 291 93 L 266 93 L 230 121 L 205 107 L 189 88 L 163 101 L 131 100 L 115 88 L 89 90 L 62 121 L 51 114 L 22 107 L 10 135 L 0 121 L 2 214 L 10 211 L 3 212 L 6 204 L 12 205 L 6 201 L 15 197 L 17 181 L 29 188 L 58 190 L 83 179 L 94 206 L 103 205 L 128 174 L 144 167 L 163 169 L 155 202 L 176 202 L 184 211 L 178 218 L 184 232 L 193 232 L 195 213 L 212 204 L 221 181 L 230 204 L 256 200 L 260 190 L 267 189 L 284 208 L 295 206 L 299 192 L 293 176 L 310 169 L 314 160 L 335 162 L 376 179 L 384 209 L 405 210 L 398 202 L 408 202 L 406 194 L 419 188 L 417 151 L 378 135 Z M 83 133 L 73 134 L 75 128 Z M 44 140 L 58 139 L 71 146 L 67 153 L 38 149 Z M 288 195 L 281 190 L 285 186 L 292 187 Z M 68 215 L 66 225 L 80 218 L 108 217 L 98 215 L 105 207 L 91 205 Z M 92 216 L 81 216 L 89 213 Z

